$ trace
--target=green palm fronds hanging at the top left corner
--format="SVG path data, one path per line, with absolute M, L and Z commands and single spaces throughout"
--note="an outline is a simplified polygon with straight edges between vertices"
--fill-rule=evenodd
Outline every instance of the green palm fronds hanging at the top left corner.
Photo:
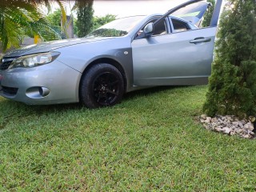
M 52 2 L 58 2 L 63 18 L 66 18 L 65 9 L 61 0 L 0 0 L 0 46 L 2 50 L 11 46 L 18 47 L 22 36 L 33 37 L 38 35 L 42 40 L 59 39 L 60 36 L 46 21 L 39 10 L 45 5 L 48 10 Z M 65 19 L 63 22 L 66 22 Z

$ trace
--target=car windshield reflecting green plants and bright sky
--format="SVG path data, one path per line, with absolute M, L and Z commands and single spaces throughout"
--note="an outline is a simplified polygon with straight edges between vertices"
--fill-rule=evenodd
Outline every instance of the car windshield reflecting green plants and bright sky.
M 113 22 L 109 22 L 104 26 L 99 27 L 86 38 L 102 38 L 102 37 L 122 37 L 134 29 L 138 22 L 142 21 L 145 16 L 134 16 L 129 18 L 119 18 Z

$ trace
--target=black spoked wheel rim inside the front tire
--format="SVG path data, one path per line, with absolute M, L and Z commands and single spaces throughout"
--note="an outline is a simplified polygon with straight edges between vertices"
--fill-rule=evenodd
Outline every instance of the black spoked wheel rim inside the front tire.
M 119 94 L 119 81 L 116 75 L 106 72 L 99 74 L 94 80 L 93 96 L 94 100 L 101 106 L 114 104 Z

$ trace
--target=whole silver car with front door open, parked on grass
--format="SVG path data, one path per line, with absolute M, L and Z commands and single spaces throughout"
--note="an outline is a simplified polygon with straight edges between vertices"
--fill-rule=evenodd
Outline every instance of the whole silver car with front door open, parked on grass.
M 13 50 L 0 62 L 0 95 L 32 105 L 96 108 L 147 86 L 206 84 L 220 1 L 207 28 L 195 25 L 209 3 L 191 0 L 164 15 L 117 19 L 86 38 Z

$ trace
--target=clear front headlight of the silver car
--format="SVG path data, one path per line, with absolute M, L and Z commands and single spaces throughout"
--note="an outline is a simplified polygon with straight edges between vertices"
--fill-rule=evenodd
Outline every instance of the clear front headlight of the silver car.
M 8 70 L 14 69 L 17 67 L 34 67 L 34 66 L 42 66 L 49 62 L 53 62 L 55 58 L 58 58 L 59 52 L 49 52 L 49 53 L 41 53 L 41 54 L 29 54 L 26 56 L 22 56 L 20 58 L 16 58 L 13 62 L 11 62 Z

